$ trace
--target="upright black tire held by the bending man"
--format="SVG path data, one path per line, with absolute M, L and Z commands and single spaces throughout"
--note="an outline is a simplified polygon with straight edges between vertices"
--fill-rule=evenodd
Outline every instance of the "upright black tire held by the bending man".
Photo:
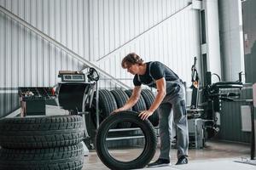
M 106 143 L 109 128 L 112 127 L 113 124 L 123 121 L 137 124 L 137 127 L 142 129 L 145 136 L 145 146 L 142 154 L 131 161 L 119 161 L 114 159 L 113 156 L 109 154 Z M 143 121 L 140 119 L 135 111 L 120 111 L 119 113 L 108 116 L 108 118 L 102 122 L 96 133 L 96 152 L 102 162 L 110 169 L 136 169 L 145 167 L 154 156 L 156 144 L 157 139 L 154 127 L 148 120 Z

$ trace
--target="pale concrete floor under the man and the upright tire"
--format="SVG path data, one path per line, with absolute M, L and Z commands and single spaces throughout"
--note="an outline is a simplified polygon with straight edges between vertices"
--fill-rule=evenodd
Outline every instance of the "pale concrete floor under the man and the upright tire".
M 138 149 L 119 150 L 119 156 L 122 158 L 137 156 Z M 154 169 L 170 169 L 170 170 L 216 170 L 216 169 L 232 169 L 232 170 L 256 170 L 256 166 L 236 161 L 246 161 L 250 157 L 249 144 L 234 144 L 228 142 L 207 142 L 207 146 L 201 150 L 189 149 L 189 164 L 175 166 L 177 150 L 171 151 L 172 166 L 169 167 L 154 167 Z M 157 150 L 154 160 L 159 156 Z M 99 157 L 95 150 L 90 150 L 89 156 L 84 156 L 83 170 L 92 169 L 108 169 Z M 152 169 L 152 168 L 144 168 Z

